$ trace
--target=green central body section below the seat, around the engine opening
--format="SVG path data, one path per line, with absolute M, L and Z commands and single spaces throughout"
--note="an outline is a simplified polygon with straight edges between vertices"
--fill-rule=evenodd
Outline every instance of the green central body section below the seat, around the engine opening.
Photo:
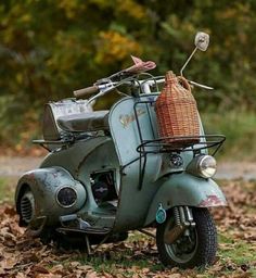
M 48 155 L 40 167 L 44 168 L 52 165 L 66 168 L 85 187 L 87 201 L 81 210 L 77 212 L 79 217 L 91 225 L 112 227 L 115 215 L 107 215 L 103 208 L 98 206 L 91 191 L 90 180 L 92 173 L 114 170 L 116 191 L 119 191 L 119 162 L 111 138 L 97 137 L 78 141 L 68 149 Z

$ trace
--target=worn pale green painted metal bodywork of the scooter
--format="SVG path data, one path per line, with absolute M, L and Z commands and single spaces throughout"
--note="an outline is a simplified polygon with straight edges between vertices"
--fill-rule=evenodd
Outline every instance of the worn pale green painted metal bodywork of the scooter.
M 108 115 L 110 134 L 89 136 L 51 152 L 39 169 L 26 173 L 20 179 L 16 203 L 24 188 L 30 186 L 40 204 L 36 216 L 47 216 L 49 225 L 57 226 L 61 216 L 76 214 L 92 227 L 113 232 L 153 224 L 159 205 L 164 210 L 177 205 L 226 205 L 214 180 L 185 173 L 193 159 L 192 151 L 180 153 L 183 160 L 180 166 L 170 164 L 169 153 L 150 153 L 145 161 L 138 152 L 141 138 L 152 140 L 157 137 L 154 112 L 157 96 L 127 97 L 115 103 Z M 204 134 L 203 127 L 201 134 Z M 106 172 L 114 175 L 115 210 L 99 204 L 92 193 L 91 176 Z M 79 201 L 73 207 L 60 208 L 55 201 L 57 190 L 64 185 L 76 187 Z

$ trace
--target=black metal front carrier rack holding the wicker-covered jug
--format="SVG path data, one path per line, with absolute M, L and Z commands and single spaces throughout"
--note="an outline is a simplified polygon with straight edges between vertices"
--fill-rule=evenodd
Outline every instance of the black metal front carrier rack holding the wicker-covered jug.
M 155 96 L 157 97 L 157 96 Z M 182 153 L 192 152 L 193 156 L 200 155 L 201 153 L 208 153 L 212 150 L 210 155 L 215 155 L 220 149 L 226 140 L 223 135 L 201 135 L 201 136 L 180 136 L 180 137 L 158 137 L 157 130 L 155 128 L 156 118 L 155 113 L 152 113 L 154 109 L 156 98 L 144 98 L 137 100 L 133 105 L 135 118 L 138 127 L 139 134 L 139 146 L 137 147 L 137 152 L 139 153 L 140 169 L 139 169 L 139 190 L 142 189 L 146 159 L 148 154 L 157 153 Z M 146 139 L 143 136 L 143 126 L 140 123 L 140 117 L 138 108 L 143 105 L 145 108 L 146 116 L 149 118 L 150 129 L 152 132 L 152 138 Z M 202 129 L 203 132 L 203 129 Z M 191 143 L 193 142 L 193 143 Z

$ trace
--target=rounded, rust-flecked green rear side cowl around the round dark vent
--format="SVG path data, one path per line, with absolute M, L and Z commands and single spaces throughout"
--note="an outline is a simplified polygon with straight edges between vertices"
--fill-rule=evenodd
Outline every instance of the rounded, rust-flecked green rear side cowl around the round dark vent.
M 77 200 L 72 206 L 63 207 L 56 201 L 56 193 L 63 187 L 71 187 L 76 191 Z M 78 211 L 86 202 L 85 187 L 62 167 L 39 168 L 25 173 L 18 180 L 15 192 L 15 204 L 20 213 L 22 194 L 30 189 L 35 198 L 34 217 L 47 216 L 48 224 L 55 224 L 61 215 Z

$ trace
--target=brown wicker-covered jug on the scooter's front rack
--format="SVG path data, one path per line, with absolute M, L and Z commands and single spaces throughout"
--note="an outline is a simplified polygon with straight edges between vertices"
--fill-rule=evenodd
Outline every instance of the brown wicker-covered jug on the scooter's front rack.
M 166 73 L 165 86 L 156 100 L 156 118 L 159 137 L 172 147 L 189 147 L 199 142 L 200 122 L 196 101 L 184 77 Z M 178 138 L 190 137 L 190 138 Z

